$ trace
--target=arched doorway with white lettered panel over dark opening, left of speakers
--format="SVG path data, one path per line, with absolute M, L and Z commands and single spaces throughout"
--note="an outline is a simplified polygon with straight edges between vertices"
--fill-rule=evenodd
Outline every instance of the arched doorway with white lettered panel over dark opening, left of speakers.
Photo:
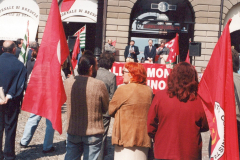
M 60 11 L 62 2 L 63 0 L 59 1 Z M 80 39 L 80 42 L 84 41 L 84 49 L 92 52 L 94 52 L 95 47 L 97 2 L 97 0 L 76 0 L 69 11 L 60 12 L 67 38 L 86 26 L 86 36 L 84 39 Z

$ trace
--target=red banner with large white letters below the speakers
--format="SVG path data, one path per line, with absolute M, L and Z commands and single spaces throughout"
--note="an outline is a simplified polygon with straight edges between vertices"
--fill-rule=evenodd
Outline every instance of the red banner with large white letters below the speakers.
M 111 72 L 117 77 L 117 85 L 123 84 L 122 69 L 125 63 L 115 62 Z M 170 68 L 167 68 L 163 64 L 142 64 L 147 71 L 147 85 L 150 86 L 155 94 L 159 90 L 164 90 L 167 87 L 167 77 L 171 72 Z

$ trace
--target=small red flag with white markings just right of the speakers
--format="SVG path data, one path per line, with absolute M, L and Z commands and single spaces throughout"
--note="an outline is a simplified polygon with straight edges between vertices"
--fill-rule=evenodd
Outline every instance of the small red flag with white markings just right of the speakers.
M 176 33 L 176 37 L 166 43 L 166 47 L 169 48 L 170 52 L 166 62 L 174 63 L 176 62 L 176 57 L 179 55 L 179 35 Z

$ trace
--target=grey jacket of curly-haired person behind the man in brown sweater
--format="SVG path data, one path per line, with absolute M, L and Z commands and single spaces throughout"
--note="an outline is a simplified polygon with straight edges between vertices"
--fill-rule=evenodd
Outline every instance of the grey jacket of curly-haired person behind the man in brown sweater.
M 114 92 L 117 89 L 116 75 L 109 72 L 107 69 L 100 67 L 97 71 L 96 79 L 101 80 L 105 83 L 107 87 L 107 91 L 109 93 L 109 101 L 111 101 L 114 95 Z M 108 112 L 103 116 L 110 117 Z

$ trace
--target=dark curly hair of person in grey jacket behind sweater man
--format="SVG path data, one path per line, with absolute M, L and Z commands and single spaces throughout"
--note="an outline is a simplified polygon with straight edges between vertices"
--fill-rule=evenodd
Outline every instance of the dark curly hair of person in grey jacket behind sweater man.
M 99 64 L 99 67 L 109 70 L 112 68 L 114 61 L 115 61 L 115 57 L 113 54 L 104 52 L 100 55 L 98 64 Z

